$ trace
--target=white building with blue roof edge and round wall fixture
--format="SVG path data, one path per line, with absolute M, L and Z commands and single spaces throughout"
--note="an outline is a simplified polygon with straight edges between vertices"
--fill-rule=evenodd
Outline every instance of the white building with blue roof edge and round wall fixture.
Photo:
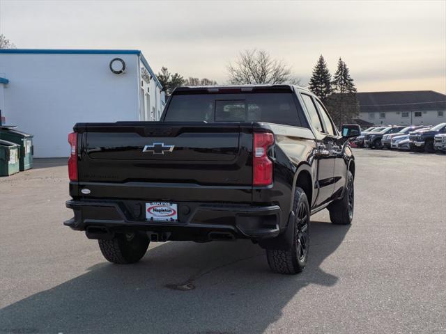
M 159 120 L 164 92 L 139 50 L 0 49 L 3 124 L 35 157 L 67 157 L 76 122 Z

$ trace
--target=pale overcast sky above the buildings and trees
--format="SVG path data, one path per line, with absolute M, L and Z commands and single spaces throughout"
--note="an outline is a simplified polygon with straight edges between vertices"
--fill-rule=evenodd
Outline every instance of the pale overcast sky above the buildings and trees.
M 359 91 L 446 93 L 446 1 L 10 1 L 17 48 L 141 49 L 158 72 L 227 80 L 243 49 L 291 65 L 306 86 L 320 54 L 341 56 Z

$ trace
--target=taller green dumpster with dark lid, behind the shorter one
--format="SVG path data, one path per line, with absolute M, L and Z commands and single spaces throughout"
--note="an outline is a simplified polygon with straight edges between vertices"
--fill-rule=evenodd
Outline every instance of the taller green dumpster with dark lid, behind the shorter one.
M 12 127 L 0 127 L 0 139 L 20 146 L 20 170 L 33 168 L 33 135 L 17 131 Z

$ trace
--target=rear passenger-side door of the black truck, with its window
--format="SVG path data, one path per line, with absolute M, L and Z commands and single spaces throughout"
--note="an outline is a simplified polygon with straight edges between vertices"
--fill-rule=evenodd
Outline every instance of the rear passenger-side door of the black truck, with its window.
M 323 118 L 316 109 L 313 97 L 305 93 L 300 94 L 307 108 L 309 122 L 316 130 L 316 161 L 317 161 L 317 184 L 318 195 L 316 197 L 315 206 L 322 205 L 332 197 L 334 191 L 334 152 L 333 152 L 333 136 L 328 129 L 323 127 Z

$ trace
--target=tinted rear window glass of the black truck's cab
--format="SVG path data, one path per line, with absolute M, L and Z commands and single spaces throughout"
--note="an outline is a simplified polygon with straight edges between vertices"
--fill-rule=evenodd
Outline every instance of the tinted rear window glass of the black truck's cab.
M 270 122 L 302 127 L 293 93 L 173 95 L 164 121 Z

